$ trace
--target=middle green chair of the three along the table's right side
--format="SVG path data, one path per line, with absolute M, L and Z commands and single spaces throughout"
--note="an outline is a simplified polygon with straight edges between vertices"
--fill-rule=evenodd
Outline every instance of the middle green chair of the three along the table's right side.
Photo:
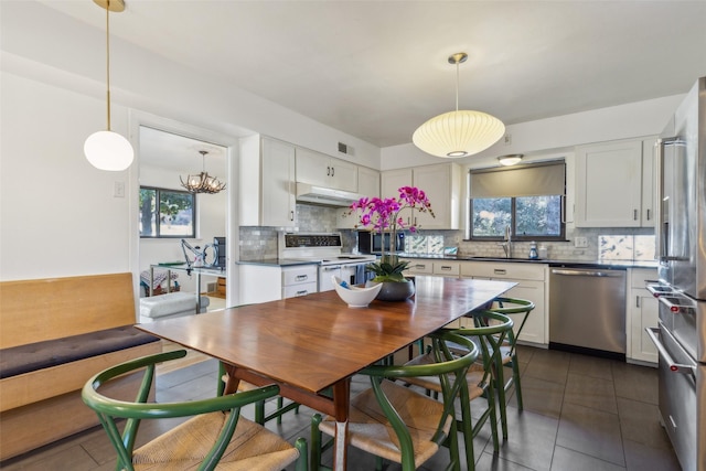
M 467 461 L 469 470 L 473 469 L 473 438 L 478 436 L 483 425 L 489 421 L 493 450 L 500 451 L 500 440 L 498 438 L 498 407 L 495 394 L 495 379 L 493 377 L 496 366 L 500 364 L 500 345 L 512 332 L 513 321 L 506 315 L 493 311 L 473 311 L 467 314 L 473 319 L 474 327 L 449 330 L 456 335 L 461 335 L 478 346 L 478 362 L 469 368 L 466 381 L 468 383 L 469 396 L 467 400 L 461 400 L 461 419 L 459 428 L 463 432 Z M 450 343 L 449 349 L 454 354 L 466 354 L 468 347 L 457 343 Z M 429 353 L 418 356 L 408 364 L 425 364 L 430 361 Z M 441 390 L 439 382 L 434 377 L 405 378 L 409 384 L 422 387 L 429 392 Z M 473 399 L 485 398 L 486 407 L 482 414 L 473 421 L 471 417 L 471 404 Z

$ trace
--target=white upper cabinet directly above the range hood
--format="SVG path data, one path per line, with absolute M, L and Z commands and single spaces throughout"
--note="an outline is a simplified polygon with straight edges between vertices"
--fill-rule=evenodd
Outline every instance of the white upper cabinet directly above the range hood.
M 357 165 L 297 148 L 297 181 L 333 190 L 357 192 Z

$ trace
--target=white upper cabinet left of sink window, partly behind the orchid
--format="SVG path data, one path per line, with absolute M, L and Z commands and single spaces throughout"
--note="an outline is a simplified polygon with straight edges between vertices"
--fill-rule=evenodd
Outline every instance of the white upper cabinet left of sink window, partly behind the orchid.
M 428 213 L 403 214 L 419 229 L 458 229 L 461 200 L 461 169 L 456 163 L 389 170 L 381 174 L 381 197 L 397 196 L 400 186 L 422 190 L 436 217 Z

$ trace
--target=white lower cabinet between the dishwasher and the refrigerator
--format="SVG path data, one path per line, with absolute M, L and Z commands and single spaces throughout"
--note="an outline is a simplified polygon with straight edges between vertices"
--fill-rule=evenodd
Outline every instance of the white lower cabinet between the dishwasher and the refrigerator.
M 649 281 L 657 279 L 656 269 L 632 268 L 628 271 L 628 306 L 625 333 L 628 360 L 657 363 L 657 350 L 645 328 L 657 327 L 659 301 L 646 290 Z

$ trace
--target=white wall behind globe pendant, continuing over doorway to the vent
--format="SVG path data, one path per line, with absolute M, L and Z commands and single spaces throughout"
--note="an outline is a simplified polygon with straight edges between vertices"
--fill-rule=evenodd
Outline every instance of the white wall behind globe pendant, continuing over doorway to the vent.
M 0 279 L 137 276 L 139 154 L 125 172 L 98 171 L 83 156 L 86 137 L 105 128 L 105 31 L 30 0 L 0 2 Z M 379 162 L 374 146 L 115 39 L 111 98 L 113 129 L 136 149 L 135 116 L 153 115 L 342 158 L 343 141 L 355 149 L 350 160 Z M 113 196 L 116 181 L 127 197 Z

